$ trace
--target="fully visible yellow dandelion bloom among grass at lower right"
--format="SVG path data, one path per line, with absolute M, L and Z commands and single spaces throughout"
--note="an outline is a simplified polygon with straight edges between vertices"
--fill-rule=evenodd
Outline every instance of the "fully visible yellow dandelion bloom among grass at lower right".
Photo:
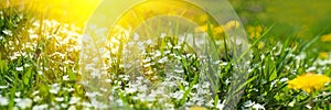
M 317 75 L 312 73 L 307 73 L 305 75 L 298 76 L 297 78 L 287 81 L 288 87 L 292 89 L 301 89 L 308 94 L 313 90 L 322 89 L 325 84 L 330 82 L 330 78 L 324 75 Z

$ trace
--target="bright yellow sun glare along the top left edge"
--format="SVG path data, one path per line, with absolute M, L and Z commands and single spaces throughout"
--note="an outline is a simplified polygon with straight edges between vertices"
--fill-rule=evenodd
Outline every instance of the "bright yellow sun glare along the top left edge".
M 63 23 L 73 23 L 83 26 L 92 12 L 102 0 L 31 0 L 25 1 L 29 11 L 42 15 L 42 18 L 54 19 Z M 24 2 L 17 0 L 13 4 Z

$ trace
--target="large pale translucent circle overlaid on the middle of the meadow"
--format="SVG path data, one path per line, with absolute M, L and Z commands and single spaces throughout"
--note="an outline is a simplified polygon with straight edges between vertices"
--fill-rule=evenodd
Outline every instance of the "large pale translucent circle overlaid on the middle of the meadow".
M 248 77 L 248 47 L 226 0 L 105 0 L 84 33 L 81 82 L 99 108 L 121 108 L 118 100 L 141 102 L 138 108 L 207 107 L 197 98 L 234 109 Z M 221 65 L 236 68 L 222 101 Z M 124 94 L 114 92 L 119 79 L 129 85 Z

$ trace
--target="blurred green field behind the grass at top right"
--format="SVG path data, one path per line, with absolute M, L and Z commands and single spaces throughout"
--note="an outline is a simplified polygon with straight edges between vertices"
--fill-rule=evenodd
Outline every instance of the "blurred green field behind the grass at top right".
M 331 33 L 331 3 L 329 0 L 229 0 L 246 25 L 273 25 L 269 34 L 285 40 L 300 33 L 305 41 Z M 330 42 L 314 44 L 321 51 L 331 51 Z

